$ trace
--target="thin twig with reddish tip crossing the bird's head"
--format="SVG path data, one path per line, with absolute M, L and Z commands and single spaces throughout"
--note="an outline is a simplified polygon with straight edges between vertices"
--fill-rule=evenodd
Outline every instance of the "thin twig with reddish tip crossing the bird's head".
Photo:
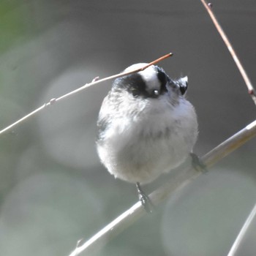
M 102 83 L 102 82 L 105 82 L 107 80 L 112 80 L 112 79 L 115 79 L 115 78 L 120 78 L 124 75 L 130 75 L 130 74 L 133 74 L 133 73 L 136 73 L 136 72 L 140 72 L 140 71 L 143 71 L 144 69 L 146 69 L 147 67 L 151 66 L 151 65 L 154 65 L 154 64 L 157 64 L 159 61 L 162 61 L 164 59 L 167 59 L 168 57 L 170 56 L 173 56 L 173 53 L 167 53 L 165 54 L 165 56 L 162 56 L 160 57 L 159 59 L 156 59 L 154 61 L 151 61 L 150 63 L 146 64 L 145 66 L 143 67 L 140 67 L 139 69 L 134 69 L 134 70 L 131 70 L 129 72 L 121 72 L 117 75 L 111 75 L 109 76 L 108 78 L 102 78 L 102 79 L 94 79 L 92 80 L 91 83 L 86 83 L 84 86 L 81 86 L 80 88 L 78 89 L 75 89 L 74 91 L 70 91 L 69 93 L 67 94 L 64 94 L 62 95 L 61 97 L 59 98 L 53 98 L 53 99 L 50 99 L 49 102 L 45 103 L 44 105 L 42 105 L 41 107 L 37 108 L 36 110 L 32 111 L 31 113 L 29 113 L 28 115 L 26 116 L 23 116 L 23 118 L 20 118 L 18 121 L 15 121 L 13 124 L 10 124 L 10 126 L 8 127 L 5 127 L 4 129 L 2 129 L 0 131 L 0 135 L 3 134 L 4 132 L 7 132 L 9 129 L 12 129 L 13 127 L 15 127 L 16 125 L 20 124 L 22 121 L 25 121 L 26 119 L 28 119 L 29 117 L 31 116 L 34 116 L 36 113 L 38 113 L 39 111 L 45 109 L 46 107 L 50 106 L 50 105 L 53 105 L 55 102 L 59 102 L 61 99 L 66 99 L 67 97 L 70 97 L 71 95 L 73 94 L 76 94 L 78 93 L 79 91 L 82 91 L 83 89 L 86 89 L 90 86 L 94 86 L 95 84 L 97 83 Z

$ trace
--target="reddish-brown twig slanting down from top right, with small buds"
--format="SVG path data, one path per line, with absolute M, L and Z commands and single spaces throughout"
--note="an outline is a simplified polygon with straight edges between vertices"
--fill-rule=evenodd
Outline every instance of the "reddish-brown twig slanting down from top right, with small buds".
M 225 45 L 227 46 L 227 49 L 230 51 L 230 54 L 233 58 L 233 60 L 236 63 L 236 66 L 238 67 L 241 76 L 244 78 L 244 82 L 247 86 L 248 93 L 252 97 L 252 100 L 255 102 L 256 105 L 256 92 L 255 89 L 252 86 L 251 81 L 249 80 L 248 75 L 246 74 L 246 71 L 244 67 L 241 64 L 241 61 L 238 59 L 238 56 L 236 54 L 236 51 L 234 50 L 233 46 L 230 43 L 230 40 L 227 38 L 227 35 L 225 34 L 225 31 L 222 29 L 222 26 L 220 26 L 219 21 L 217 20 L 216 16 L 214 15 L 214 12 L 212 10 L 212 4 L 207 4 L 205 0 L 200 0 L 203 3 L 203 6 L 206 7 L 206 10 L 208 14 L 211 17 L 212 22 L 214 23 L 217 31 L 219 32 L 220 36 L 222 37 L 223 41 L 225 42 Z

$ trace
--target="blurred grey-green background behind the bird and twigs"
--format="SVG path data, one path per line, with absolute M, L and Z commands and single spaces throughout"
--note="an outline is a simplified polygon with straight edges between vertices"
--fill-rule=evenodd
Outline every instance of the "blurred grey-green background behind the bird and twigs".
M 256 2 L 213 1 L 252 83 Z M 1 0 L 0 125 L 93 78 L 130 64 L 162 61 L 188 75 L 197 110 L 199 156 L 255 120 L 255 105 L 201 2 Z M 137 200 L 95 147 L 97 114 L 110 83 L 51 106 L 0 136 L 0 254 L 69 255 Z M 97 255 L 227 255 L 255 205 L 256 140 L 124 230 Z M 144 186 L 162 184 L 160 177 Z M 255 255 L 256 219 L 238 255 Z

